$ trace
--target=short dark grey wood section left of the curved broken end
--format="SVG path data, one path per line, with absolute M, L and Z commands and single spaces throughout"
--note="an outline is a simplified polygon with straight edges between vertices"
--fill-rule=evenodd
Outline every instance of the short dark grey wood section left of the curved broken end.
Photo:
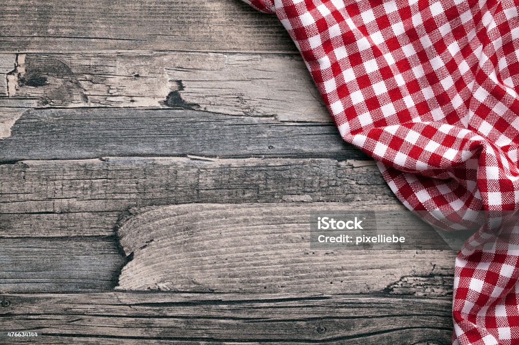
M 110 290 L 124 264 L 114 237 L 16 237 L 0 242 L 4 293 Z

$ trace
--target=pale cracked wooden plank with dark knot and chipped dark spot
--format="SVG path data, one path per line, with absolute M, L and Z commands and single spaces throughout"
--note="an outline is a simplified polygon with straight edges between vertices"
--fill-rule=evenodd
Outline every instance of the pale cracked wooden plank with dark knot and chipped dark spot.
M 332 121 L 299 54 L 23 56 L 16 96 L 38 99 L 39 107 L 183 107 L 281 121 Z

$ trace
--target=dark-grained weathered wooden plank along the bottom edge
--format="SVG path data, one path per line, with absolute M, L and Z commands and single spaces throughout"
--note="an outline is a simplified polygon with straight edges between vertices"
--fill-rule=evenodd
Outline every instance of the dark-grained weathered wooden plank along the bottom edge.
M 45 343 L 449 343 L 450 301 L 322 294 L 4 295 L 0 328 Z M 128 342 L 127 342 L 128 341 Z M 430 342 L 428 342 L 430 341 Z

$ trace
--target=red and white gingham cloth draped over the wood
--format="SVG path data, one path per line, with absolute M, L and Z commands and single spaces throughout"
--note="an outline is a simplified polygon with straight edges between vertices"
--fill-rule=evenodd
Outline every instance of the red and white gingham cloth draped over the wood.
M 405 206 L 477 224 L 456 259 L 453 343 L 519 344 L 519 0 L 244 1 L 276 14 L 344 140 Z

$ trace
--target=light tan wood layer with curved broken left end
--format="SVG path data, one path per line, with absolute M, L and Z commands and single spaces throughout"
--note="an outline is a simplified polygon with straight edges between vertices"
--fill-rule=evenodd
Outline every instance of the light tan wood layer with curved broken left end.
M 452 272 L 454 251 L 436 251 L 431 261 L 432 251 L 422 257 L 414 250 L 312 249 L 310 212 L 348 209 L 359 207 L 189 204 L 132 210 L 117 227 L 122 249 L 132 254 L 117 289 L 369 293 L 411 274 Z M 418 219 L 410 221 L 416 228 L 407 236 L 439 238 Z

